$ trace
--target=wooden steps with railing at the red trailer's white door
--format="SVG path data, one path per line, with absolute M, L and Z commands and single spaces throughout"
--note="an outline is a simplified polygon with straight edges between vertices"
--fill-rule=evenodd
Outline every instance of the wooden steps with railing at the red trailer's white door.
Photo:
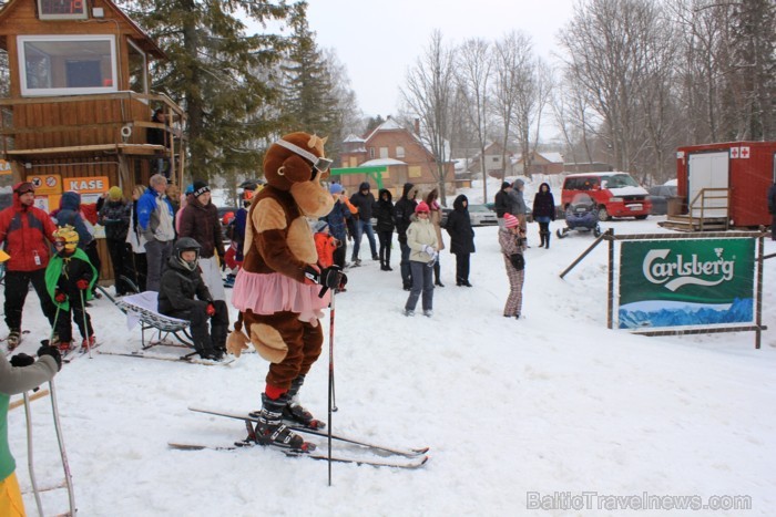
M 727 231 L 729 206 L 728 188 L 703 188 L 687 207 L 687 214 L 668 214 L 658 225 L 676 231 Z

